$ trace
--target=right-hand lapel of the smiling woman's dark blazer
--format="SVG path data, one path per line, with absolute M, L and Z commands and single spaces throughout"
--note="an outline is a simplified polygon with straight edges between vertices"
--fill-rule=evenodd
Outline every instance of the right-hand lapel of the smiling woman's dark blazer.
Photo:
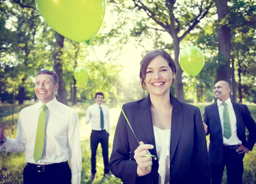
M 172 125 L 171 125 L 171 144 L 170 144 L 170 164 L 174 156 L 177 144 L 180 139 L 181 130 L 183 126 L 183 110 L 177 98 L 171 97 L 172 102 Z

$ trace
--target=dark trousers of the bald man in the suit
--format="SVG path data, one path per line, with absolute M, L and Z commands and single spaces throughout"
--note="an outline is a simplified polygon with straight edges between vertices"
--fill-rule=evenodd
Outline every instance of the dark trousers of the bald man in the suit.
M 221 164 L 210 163 L 211 184 L 221 184 L 224 167 L 227 168 L 227 183 L 242 184 L 244 172 L 243 154 L 238 154 L 236 149 L 223 147 L 223 160 Z

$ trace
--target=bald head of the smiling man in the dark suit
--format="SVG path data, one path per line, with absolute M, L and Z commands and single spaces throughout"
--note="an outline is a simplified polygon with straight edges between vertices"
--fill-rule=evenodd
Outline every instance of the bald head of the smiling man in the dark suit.
M 230 97 L 230 85 L 225 80 L 220 80 L 214 85 L 214 95 L 221 101 L 226 101 Z

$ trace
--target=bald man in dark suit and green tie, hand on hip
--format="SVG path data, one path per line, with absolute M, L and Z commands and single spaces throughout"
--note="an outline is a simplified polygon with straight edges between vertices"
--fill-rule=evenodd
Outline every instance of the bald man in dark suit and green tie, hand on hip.
M 230 100 L 230 85 L 224 80 L 214 86 L 217 102 L 204 109 L 206 135 L 210 134 L 208 154 L 211 183 L 221 184 L 227 167 L 228 184 L 242 184 L 244 154 L 253 149 L 256 124 L 246 105 Z M 245 127 L 249 130 L 246 141 Z

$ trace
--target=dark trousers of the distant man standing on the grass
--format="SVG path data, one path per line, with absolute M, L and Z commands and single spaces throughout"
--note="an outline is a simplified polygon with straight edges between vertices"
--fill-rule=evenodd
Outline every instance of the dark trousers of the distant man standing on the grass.
M 91 164 L 92 164 L 92 173 L 96 173 L 96 152 L 99 143 L 102 146 L 102 155 L 103 155 L 103 161 L 104 161 L 104 173 L 109 172 L 109 166 L 108 166 L 108 137 L 109 134 L 106 132 L 106 130 L 92 130 L 91 136 L 90 136 L 90 144 L 91 144 Z

